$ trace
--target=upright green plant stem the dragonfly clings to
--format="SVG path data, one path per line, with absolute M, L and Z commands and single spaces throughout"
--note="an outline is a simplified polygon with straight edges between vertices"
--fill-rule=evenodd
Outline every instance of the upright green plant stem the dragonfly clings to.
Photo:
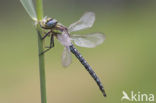
M 42 0 L 36 0 L 37 19 L 40 21 L 43 18 L 43 5 Z M 41 39 L 42 30 L 39 23 L 37 24 L 38 33 L 38 52 L 39 54 L 44 51 L 43 40 Z M 41 88 L 41 103 L 47 103 L 46 97 L 46 78 L 45 78 L 45 64 L 44 54 L 39 55 L 39 72 L 40 72 L 40 88 Z

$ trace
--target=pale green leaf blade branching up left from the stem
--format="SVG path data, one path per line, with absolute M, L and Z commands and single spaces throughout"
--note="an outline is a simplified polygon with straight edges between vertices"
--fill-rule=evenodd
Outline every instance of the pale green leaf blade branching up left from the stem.
M 20 0 L 20 2 L 22 3 L 23 7 L 25 8 L 29 16 L 34 21 L 37 21 L 37 16 L 36 16 L 36 12 L 32 0 Z

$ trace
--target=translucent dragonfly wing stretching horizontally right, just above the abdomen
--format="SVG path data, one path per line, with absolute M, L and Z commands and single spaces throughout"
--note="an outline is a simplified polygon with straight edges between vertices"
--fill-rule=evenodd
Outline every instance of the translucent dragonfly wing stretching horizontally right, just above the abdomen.
M 85 35 L 73 34 L 71 38 L 77 46 L 86 48 L 94 48 L 97 45 L 102 44 L 105 40 L 105 36 L 102 33 L 92 33 Z

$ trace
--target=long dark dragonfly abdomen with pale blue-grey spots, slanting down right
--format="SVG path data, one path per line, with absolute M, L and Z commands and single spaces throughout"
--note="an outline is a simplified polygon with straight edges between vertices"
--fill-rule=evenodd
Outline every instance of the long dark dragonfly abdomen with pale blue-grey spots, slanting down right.
M 82 57 L 82 55 L 78 52 L 78 50 L 73 45 L 70 46 L 70 51 L 77 57 L 77 59 L 81 62 L 81 64 L 86 68 L 86 70 L 89 72 L 92 78 L 96 81 L 103 95 L 106 96 L 104 87 L 100 79 L 98 78 L 96 73 L 93 71 L 93 69 L 90 67 L 90 65 L 87 63 L 87 61 Z

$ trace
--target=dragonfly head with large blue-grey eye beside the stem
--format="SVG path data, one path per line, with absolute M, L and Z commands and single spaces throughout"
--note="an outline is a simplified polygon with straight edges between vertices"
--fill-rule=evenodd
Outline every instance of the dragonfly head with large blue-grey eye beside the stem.
M 45 17 L 40 23 L 41 27 L 44 29 L 51 29 L 51 28 L 55 27 L 56 24 L 57 24 L 56 19 L 47 18 L 47 17 Z

